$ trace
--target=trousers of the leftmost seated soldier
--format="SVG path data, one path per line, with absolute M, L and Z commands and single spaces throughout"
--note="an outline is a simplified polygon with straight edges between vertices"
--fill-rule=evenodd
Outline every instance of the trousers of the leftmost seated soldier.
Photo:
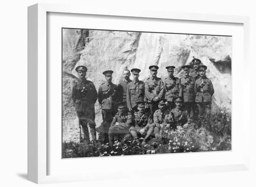
M 115 137 L 122 139 L 129 132 L 130 126 L 126 123 L 119 123 L 113 125 L 108 129 L 108 141 L 110 144 L 114 143 Z

